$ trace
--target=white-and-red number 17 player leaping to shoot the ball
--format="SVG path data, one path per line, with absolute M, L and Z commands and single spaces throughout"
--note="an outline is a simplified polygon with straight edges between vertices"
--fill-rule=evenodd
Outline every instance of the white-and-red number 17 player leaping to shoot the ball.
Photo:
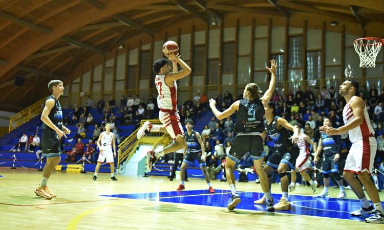
M 140 139 L 146 132 L 163 132 L 176 140 L 164 149 L 148 151 L 147 153 L 147 170 L 151 172 L 152 165 L 158 157 L 166 153 L 172 153 L 179 149 L 186 149 L 187 145 L 184 137 L 184 130 L 181 127 L 180 116 L 177 110 L 177 84 L 176 80 L 182 79 L 190 74 L 190 67 L 180 59 L 179 56 L 170 53 L 164 54 L 173 63 L 173 72 L 170 72 L 168 60 L 161 58 L 152 66 L 153 72 L 156 73 L 155 83 L 159 93 L 157 104 L 159 106 L 159 119 L 163 125 L 152 125 L 146 121 L 137 131 L 137 139 Z M 177 64 L 182 68 L 178 71 Z

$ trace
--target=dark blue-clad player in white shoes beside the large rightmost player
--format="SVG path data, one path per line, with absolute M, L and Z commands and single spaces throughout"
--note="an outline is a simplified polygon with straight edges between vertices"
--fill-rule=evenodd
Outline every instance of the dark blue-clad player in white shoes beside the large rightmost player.
M 323 125 L 327 127 L 332 127 L 332 122 L 329 118 L 325 118 Z M 330 135 L 325 132 L 321 133 L 321 138 L 319 140 L 317 152 L 313 162 L 315 165 L 319 162 L 319 155 L 323 150 L 323 165 L 321 172 L 323 173 L 324 180 L 324 189 L 321 193 L 317 194 L 318 197 L 327 197 L 328 196 L 328 186 L 330 181 L 330 175 L 334 175 L 336 178 L 337 185 L 340 188 L 340 193 L 337 198 L 345 198 L 347 195 L 344 190 L 343 178 L 340 176 L 340 171 L 342 171 L 343 162 L 340 159 L 340 153 L 342 152 L 342 139 L 339 135 Z

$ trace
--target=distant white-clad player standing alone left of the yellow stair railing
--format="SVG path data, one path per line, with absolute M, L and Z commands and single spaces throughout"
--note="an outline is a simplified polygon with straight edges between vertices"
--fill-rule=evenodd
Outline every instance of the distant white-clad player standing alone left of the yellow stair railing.
M 106 160 L 106 163 L 111 166 L 111 180 L 117 180 L 115 177 L 115 163 L 114 158 L 116 157 L 116 145 L 115 145 L 115 134 L 111 132 L 111 124 L 105 124 L 105 131 L 100 133 L 99 139 L 97 140 L 97 146 L 99 147 L 99 158 L 97 159 L 97 165 L 93 180 L 97 179 L 97 173 L 99 172 L 101 164 Z M 112 152 L 113 148 L 113 152 Z

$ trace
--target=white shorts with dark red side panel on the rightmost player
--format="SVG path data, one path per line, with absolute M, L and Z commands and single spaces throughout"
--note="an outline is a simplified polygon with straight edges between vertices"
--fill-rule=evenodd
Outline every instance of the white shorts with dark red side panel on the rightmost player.
M 375 137 L 364 137 L 364 139 L 352 143 L 349 150 L 344 172 L 353 172 L 359 174 L 367 171 L 372 173 L 373 162 L 377 150 L 377 142 Z

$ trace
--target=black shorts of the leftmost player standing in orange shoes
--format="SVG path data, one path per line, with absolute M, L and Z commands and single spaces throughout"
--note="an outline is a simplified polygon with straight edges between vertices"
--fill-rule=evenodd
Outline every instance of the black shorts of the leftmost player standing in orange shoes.
M 41 150 L 47 157 L 60 156 L 60 139 L 55 131 L 42 130 Z

